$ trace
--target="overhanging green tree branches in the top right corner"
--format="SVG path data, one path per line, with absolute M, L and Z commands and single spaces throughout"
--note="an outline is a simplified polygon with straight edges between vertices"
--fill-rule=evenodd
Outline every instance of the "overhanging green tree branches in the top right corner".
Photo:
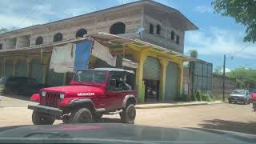
M 214 0 L 214 12 L 246 26 L 244 42 L 256 41 L 256 1 L 255 0 Z

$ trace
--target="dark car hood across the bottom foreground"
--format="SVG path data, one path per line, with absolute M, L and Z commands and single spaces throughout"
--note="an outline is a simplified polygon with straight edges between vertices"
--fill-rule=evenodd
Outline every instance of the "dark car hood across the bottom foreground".
M 69 124 L 0 128 L 0 143 L 247 143 L 250 134 L 126 124 Z

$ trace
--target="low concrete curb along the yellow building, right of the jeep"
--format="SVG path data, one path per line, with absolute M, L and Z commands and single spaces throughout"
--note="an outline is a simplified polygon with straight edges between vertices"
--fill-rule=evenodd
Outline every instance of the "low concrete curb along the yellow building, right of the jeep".
M 183 106 L 202 106 L 202 105 L 214 105 L 214 104 L 222 104 L 223 102 L 203 102 L 203 103 L 194 103 L 194 104 L 177 104 L 177 105 L 166 105 L 166 106 L 135 106 L 136 109 L 162 109 L 168 107 L 183 107 Z

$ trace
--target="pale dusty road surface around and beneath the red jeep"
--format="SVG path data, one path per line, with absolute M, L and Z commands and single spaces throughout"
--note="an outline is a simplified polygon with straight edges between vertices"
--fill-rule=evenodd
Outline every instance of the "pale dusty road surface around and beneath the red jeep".
M 1 98 L 0 98 L 1 99 Z M 16 107 L 8 102 L 0 108 L 0 126 L 31 125 L 31 110 L 26 102 L 16 102 Z M 15 102 L 14 102 L 15 103 Z M 18 104 L 19 103 L 19 104 Z M 103 116 L 102 122 L 120 122 L 118 115 Z M 56 121 L 54 124 L 62 123 Z M 161 127 L 196 127 L 217 130 L 231 130 L 256 134 L 256 113 L 251 105 L 215 104 L 204 106 L 172 107 L 162 109 L 137 110 L 137 125 Z

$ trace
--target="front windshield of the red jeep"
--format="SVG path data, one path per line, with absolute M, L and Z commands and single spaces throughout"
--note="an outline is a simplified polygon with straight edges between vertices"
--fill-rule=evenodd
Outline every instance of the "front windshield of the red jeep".
M 74 82 L 104 83 L 106 71 L 102 70 L 78 70 L 74 75 Z

